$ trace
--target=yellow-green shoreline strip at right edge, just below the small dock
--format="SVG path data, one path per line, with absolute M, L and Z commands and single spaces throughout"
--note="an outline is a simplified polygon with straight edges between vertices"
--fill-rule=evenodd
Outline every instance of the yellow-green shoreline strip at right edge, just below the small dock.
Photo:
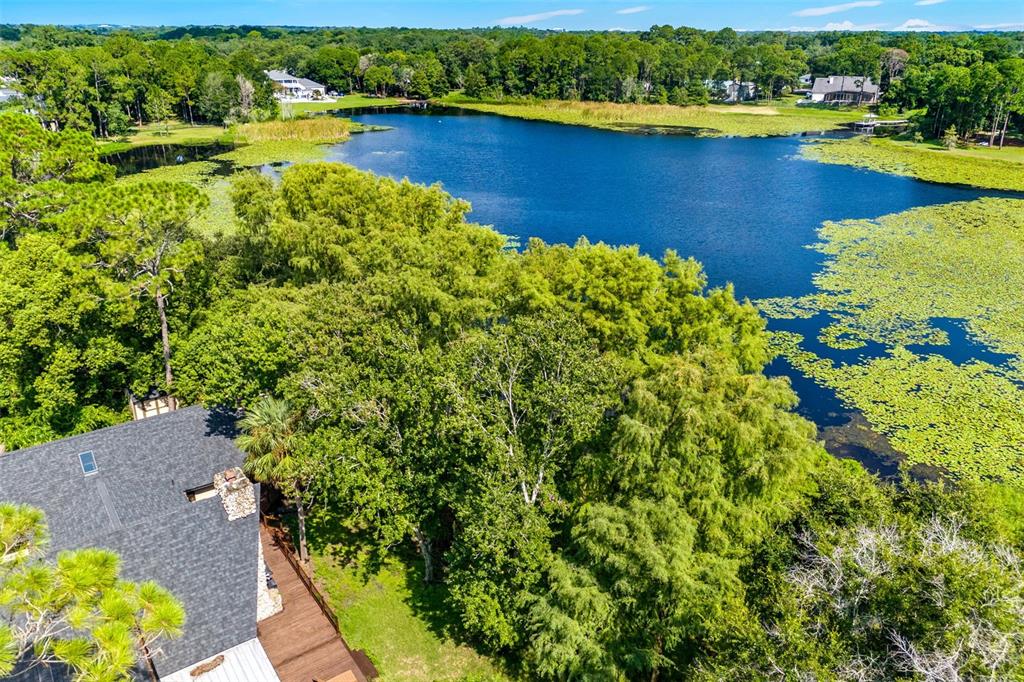
M 826 164 L 858 166 L 929 182 L 1024 191 L 1024 148 L 946 150 L 933 142 L 853 137 L 805 144 L 803 156 Z

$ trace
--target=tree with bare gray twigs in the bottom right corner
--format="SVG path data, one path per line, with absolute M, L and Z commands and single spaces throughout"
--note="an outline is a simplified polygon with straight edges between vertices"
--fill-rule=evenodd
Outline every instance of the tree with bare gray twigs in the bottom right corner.
M 876 523 L 800 539 L 768 665 L 867 679 L 1015 679 L 1024 673 L 1020 556 L 961 517 Z M 753 666 L 733 674 L 753 674 Z

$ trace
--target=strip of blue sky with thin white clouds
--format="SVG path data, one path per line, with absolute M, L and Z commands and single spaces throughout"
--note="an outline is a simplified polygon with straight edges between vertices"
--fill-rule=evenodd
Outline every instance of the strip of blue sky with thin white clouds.
M 1024 0 L 0 0 L 0 24 L 1024 30 Z

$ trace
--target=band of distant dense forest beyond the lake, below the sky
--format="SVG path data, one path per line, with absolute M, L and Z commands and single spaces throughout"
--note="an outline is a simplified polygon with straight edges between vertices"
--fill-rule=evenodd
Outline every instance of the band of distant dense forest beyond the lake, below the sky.
M 5 27 L 0 36 L 0 73 L 17 79 L 40 115 L 98 136 L 172 115 L 272 118 L 267 69 L 339 92 L 673 104 L 707 103 L 715 83 L 730 79 L 771 99 L 804 74 L 868 76 L 885 91 L 883 106 L 918 112 L 929 137 L 1020 129 L 1024 111 L 1020 33 Z

